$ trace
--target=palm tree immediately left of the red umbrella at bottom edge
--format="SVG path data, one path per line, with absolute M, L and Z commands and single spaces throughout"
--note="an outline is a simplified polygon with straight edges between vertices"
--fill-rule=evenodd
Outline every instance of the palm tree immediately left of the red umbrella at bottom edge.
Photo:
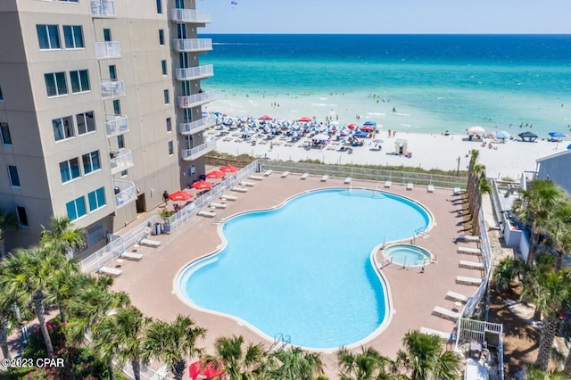
M 172 322 L 153 321 L 147 329 L 143 343 L 144 363 L 158 359 L 167 363 L 170 373 L 181 380 L 186 369 L 186 359 L 200 356 L 203 350 L 196 347 L 198 338 L 203 339 L 206 330 L 196 326 L 194 320 L 178 315 Z

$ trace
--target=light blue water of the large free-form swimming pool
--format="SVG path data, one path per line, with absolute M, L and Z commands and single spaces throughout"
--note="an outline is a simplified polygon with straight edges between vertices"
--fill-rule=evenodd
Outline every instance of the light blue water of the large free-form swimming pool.
M 178 285 L 194 305 L 270 337 L 333 349 L 368 337 L 387 317 L 371 251 L 430 223 L 418 203 L 393 194 L 301 194 L 275 210 L 229 219 L 222 228 L 228 245 L 184 269 Z

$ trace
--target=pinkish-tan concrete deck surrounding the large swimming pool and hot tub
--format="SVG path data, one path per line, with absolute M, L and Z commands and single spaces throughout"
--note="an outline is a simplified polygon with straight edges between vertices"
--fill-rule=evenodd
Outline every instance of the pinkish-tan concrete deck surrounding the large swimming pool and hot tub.
M 224 219 L 239 212 L 275 207 L 287 198 L 308 190 L 349 187 L 343 184 L 344 178 L 330 177 L 327 182 L 322 182 L 321 176 L 310 176 L 305 180 L 300 178 L 296 174 L 281 178 L 280 173 L 272 173 L 261 181 L 255 181 L 255 186 L 248 187 L 247 193 L 236 193 L 236 201 L 225 202 L 227 207 L 216 209 L 215 212 L 219 218 Z M 385 356 L 394 359 L 396 351 L 401 348 L 403 335 L 410 330 L 425 326 L 451 332 L 453 322 L 432 315 L 434 307 L 458 309 L 459 306 L 453 301 L 445 299 L 446 293 L 452 291 L 471 296 L 477 288 L 457 284 L 456 277 L 480 277 L 484 272 L 459 267 L 460 260 L 476 259 L 457 253 L 455 238 L 467 234 L 463 217 L 463 212 L 466 211 L 461 210 L 463 205 L 459 202 L 460 197 L 453 195 L 452 189 L 435 188 L 434 193 L 428 193 L 426 186 L 415 186 L 412 190 L 407 190 L 406 184 L 393 183 L 388 189 L 383 185 L 353 179 L 351 186 L 371 189 L 378 186 L 379 190 L 406 196 L 423 204 L 432 213 L 434 225 L 426 237 L 417 238 L 417 244 L 432 252 L 437 260 L 434 264 L 426 265 L 424 273 L 421 273 L 422 267 L 402 268 L 396 264 L 382 269 L 385 280 L 390 285 L 393 318 L 385 331 L 364 345 L 375 347 Z M 147 316 L 172 320 L 178 314 L 184 314 L 194 318 L 199 326 L 208 330 L 206 339 L 200 345 L 209 352 L 212 352 L 216 338 L 228 335 L 243 335 L 246 341 L 264 343 L 269 347 L 273 342 L 257 335 L 247 326 L 240 326 L 230 318 L 194 310 L 174 293 L 173 282 L 178 271 L 188 262 L 215 251 L 221 243 L 217 233 L 217 218 L 195 217 L 171 235 L 153 236 L 153 240 L 161 241 L 161 245 L 158 248 L 138 247 L 137 252 L 143 254 L 143 260 L 114 261 L 109 267 L 120 266 L 122 274 L 115 279 L 113 289 L 127 292 L 133 304 Z M 121 233 L 123 231 L 119 231 Z M 283 243 L 287 244 L 287 239 Z M 462 246 L 476 247 L 476 243 Z M 382 253 L 377 252 L 377 259 L 380 261 L 382 258 Z M 335 352 L 324 353 L 323 360 L 327 366 L 326 375 L 335 378 Z

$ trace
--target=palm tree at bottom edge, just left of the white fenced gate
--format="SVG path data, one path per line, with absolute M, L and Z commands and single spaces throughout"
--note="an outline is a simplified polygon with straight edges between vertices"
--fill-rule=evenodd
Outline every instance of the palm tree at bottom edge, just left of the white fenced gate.
M 452 380 L 459 376 L 461 367 L 458 355 L 446 351 L 443 340 L 436 335 L 411 331 L 402 338 L 405 351 L 399 350 L 396 368 L 410 373 L 413 380 Z

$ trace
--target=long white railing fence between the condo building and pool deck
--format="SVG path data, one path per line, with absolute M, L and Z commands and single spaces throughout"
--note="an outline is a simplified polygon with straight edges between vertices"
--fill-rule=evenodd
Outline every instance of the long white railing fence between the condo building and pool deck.
M 259 169 L 258 161 L 252 161 L 243 169 L 240 169 L 219 185 L 214 186 L 208 193 L 197 197 L 194 202 L 189 203 L 170 218 L 163 219 L 157 215 L 145 219 L 141 225 L 131 229 L 124 235 L 110 234 L 107 237 L 109 244 L 102 249 L 92 253 L 86 259 L 81 260 L 79 265 L 84 273 L 95 273 L 99 268 L 118 259 L 123 252 L 127 252 L 135 244 L 151 235 L 152 227 L 161 224 L 165 233 L 172 233 L 184 226 L 187 222 L 195 220 L 196 214 L 207 208 L 211 202 L 217 200 L 221 195 L 226 194 L 234 186 L 251 176 Z

